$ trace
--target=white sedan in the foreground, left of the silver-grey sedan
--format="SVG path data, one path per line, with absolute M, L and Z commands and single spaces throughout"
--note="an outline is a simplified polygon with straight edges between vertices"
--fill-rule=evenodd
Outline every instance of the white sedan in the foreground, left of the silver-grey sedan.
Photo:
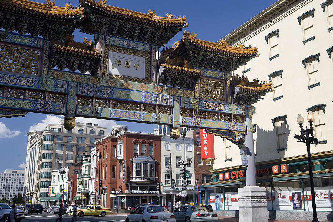
M 158 205 L 138 207 L 126 217 L 126 222 L 176 222 L 174 214 Z

